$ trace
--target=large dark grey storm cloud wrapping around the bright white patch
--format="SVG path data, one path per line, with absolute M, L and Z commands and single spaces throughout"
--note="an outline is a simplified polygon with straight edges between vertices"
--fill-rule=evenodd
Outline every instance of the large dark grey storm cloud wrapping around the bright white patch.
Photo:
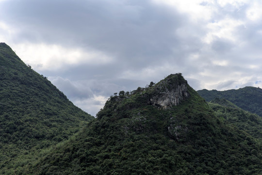
M 59 70 L 57 74 L 65 78 L 86 79 L 101 75 L 101 79 L 110 79 L 127 70 L 144 73 L 141 70 L 167 63 L 178 67 L 168 73 L 176 73 L 188 65 L 186 57 L 199 50 L 201 44 L 200 38 L 190 35 L 192 26 L 185 28 L 186 15 L 149 0 L 23 0 L 4 3 L 2 14 L 9 14 L 5 21 L 20 26 L 15 37 L 17 42 L 58 43 L 67 48 L 94 49 L 113 58 L 113 64 L 105 66 L 80 63 L 81 66 L 73 70 L 75 68 L 67 65 L 63 67 L 66 72 Z M 198 31 L 196 26 L 194 28 Z M 183 32 L 186 30 L 188 33 Z M 186 71 L 191 70 L 194 69 Z M 148 76 L 148 81 L 153 79 Z M 159 73 L 156 80 L 161 78 L 163 74 Z

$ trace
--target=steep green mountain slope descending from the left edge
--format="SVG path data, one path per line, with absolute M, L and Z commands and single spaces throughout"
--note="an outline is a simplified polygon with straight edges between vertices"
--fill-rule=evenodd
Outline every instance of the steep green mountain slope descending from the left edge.
M 1 175 L 14 175 L 93 118 L 0 43 Z

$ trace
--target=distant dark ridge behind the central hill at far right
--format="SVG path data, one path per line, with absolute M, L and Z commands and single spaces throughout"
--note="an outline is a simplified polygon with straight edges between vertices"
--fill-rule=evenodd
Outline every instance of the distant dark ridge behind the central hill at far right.
M 201 95 L 207 102 L 210 102 L 215 98 L 224 98 L 237 105 L 238 107 L 258 114 L 262 117 L 261 88 L 245 87 L 224 91 L 203 89 L 198 90 L 197 93 Z

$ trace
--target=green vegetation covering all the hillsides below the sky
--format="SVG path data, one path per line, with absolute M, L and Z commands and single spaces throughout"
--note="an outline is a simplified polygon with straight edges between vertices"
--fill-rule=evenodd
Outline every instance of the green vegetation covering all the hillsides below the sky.
M 261 175 L 261 89 L 198 93 L 171 74 L 92 120 L 0 43 L 0 174 Z

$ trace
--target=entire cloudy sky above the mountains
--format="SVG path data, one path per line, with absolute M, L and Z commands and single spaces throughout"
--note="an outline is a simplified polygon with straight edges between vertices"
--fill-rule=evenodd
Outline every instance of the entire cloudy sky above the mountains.
M 261 0 L 0 0 L 0 42 L 95 116 L 182 73 L 200 89 L 262 87 Z

